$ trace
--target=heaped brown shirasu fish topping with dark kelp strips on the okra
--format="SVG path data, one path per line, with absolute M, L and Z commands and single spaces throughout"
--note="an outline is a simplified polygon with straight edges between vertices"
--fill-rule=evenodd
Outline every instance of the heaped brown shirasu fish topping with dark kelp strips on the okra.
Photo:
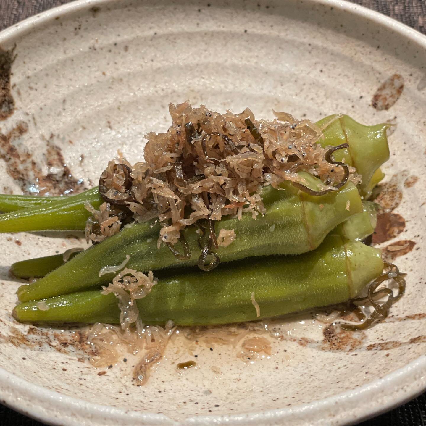
M 172 125 L 167 132 L 146 135 L 145 161 L 131 165 L 119 155 L 102 173 L 99 191 L 106 202 L 99 211 L 87 206 L 93 213 L 87 239 L 100 242 L 118 233 L 129 218 L 157 219 L 158 247 L 166 244 L 178 259 L 188 259 L 191 253 L 181 231 L 207 219 L 199 266 L 210 270 L 219 264 L 214 249 L 236 237 L 233 230 L 221 231 L 218 242 L 214 221 L 224 216 L 241 219 L 243 213 L 253 219 L 263 215 L 262 187 L 280 189 L 282 182 L 291 181 L 319 196 L 338 190 L 348 179 L 360 182 L 353 167 L 332 158 L 347 144 L 324 148 L 318 144 L 323 134 L 316 124 L 284 112 L 274 114 L 276 119 L 266 121 L 256 120 L 250 109 L 222 115 L 188 102 L 170 104 Z M 301 171 L 319 178 L 320 189 L 307 187 Z M 178 241 L 179 250 L 174 247 Z M 207 256 L 213 260 L 205 265 Z

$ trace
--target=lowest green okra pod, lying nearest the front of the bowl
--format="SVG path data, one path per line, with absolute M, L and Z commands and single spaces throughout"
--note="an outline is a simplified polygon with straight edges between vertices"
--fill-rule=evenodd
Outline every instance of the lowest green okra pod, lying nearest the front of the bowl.
M 382 270 L 380 250 L 333 233 L 319 248 L 299 256 L 243 259 L 210 272 L 163 271 L 156 274 L 159 281 L 151 293 L 136 303 L 146 324 L 251 321 L 353 299 Z M 13 315 L 25 322 L 119 322 L 112 293 L 84 291 L 43 302 L 43 309 L 39 302 L 21 303 Z

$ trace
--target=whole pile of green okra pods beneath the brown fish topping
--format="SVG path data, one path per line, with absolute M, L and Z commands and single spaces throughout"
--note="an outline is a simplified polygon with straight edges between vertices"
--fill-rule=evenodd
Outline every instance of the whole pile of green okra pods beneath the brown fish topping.
M 158 278 L 151 293 L 137 300 L 145 324 L 250 321 L 354 299 L 383 271 L 380 251 L 362 241 L 376 225 L 375 205 L 367 200 L 384 176 L 380 166 L 389 158 L 387 127 L 364 126 L 348 116 L 332 122 L 320 143 L 347 143 L 334 158 L 356 167 L 362 184 L 348 181 L 323 196 L 304 193 L 291 182 L 282 190 L 264 187 L 263 216 L 243 214 L 241 220 L 217 222 L 216 232 L 234 229 L 237 239 L 218 248 L 222 262 L 213 271 L 196 268 L 196 258 L 178 260 L 167 247 L 157 248 L 159 225 L 154 221 L 135 223 L 67 261 L 59 254 L 14 263 L 15 277 L 37 279 L 18 289 L 14 317 L 33 323 L 118 323 L 117 298 L 102 294 L 102 286 L 116 273 L 99 276 L 99 271 L 121 264 L 127 256 L 127 268 L 153 271 Z M 305 175 L 315 188 L 317 178 Z M 103 202 L 98 187 L 63 197 L 1 195 L 0 232 L 84 230 L 90 216 L 86 203 L 98 208 Z M 193 252 L 197 229 L 185 230 Z

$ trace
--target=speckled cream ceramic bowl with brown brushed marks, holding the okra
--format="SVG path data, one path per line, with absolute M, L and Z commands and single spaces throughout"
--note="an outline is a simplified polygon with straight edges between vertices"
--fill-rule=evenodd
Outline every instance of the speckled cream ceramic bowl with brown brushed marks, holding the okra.
M 382 201 L 399 225 L 381 246 L 400 255 L 406 295 L 386 321 L 356 334 L 309 313 L 282 320 L 271 356 L 249 363 L 237 357 L 239 345 L 199 345 L 198 366 L 178 372 L 192 356 L 176 339 L 136 387 L 123 362 L 89 364 L 84 329 L 11 317 L 20 283 L 9 265 L 81 245 L 79 236 L 3 234 L 0 402 L 14 409 L 67 425 L 328 425 L 354 423 L 426 387 L 426 38 L 338 0 L 208 1 L 81 0 L 3 31 L 1 191 L 96 184 L 118 148 L 141 159 L 144 133 L 170 122 L 169 102 L 250 107 L 265 118 L 275 109 L 393 120 Z M 376 89 L 395 73 L 402 95 L 374 109 Z

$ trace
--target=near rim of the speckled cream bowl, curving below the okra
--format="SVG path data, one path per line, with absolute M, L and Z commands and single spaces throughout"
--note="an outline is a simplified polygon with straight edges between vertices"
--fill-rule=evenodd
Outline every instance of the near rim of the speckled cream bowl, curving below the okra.
M 420 377 L 419 372 L 422 374 Z M 412 377 L 414 380 L 409 381 L 406 386 L 401 387 L 399 381 L 402 376 L 407 378 Z M 300 421 L 300 423 L 297 424 L 328 425 L 331 424 L 331 420 L 334 420 L 333 424 L 356 424 L 380 412 L 385 412 L 399 406 L 413 397 L 420 395 L 424 389 L 426 389 L 426 355 L 421 355 L 402 368 L 398 368 L 397 370 L 386 374 L 386 376 L 381 379 L 375 379 L 355 390 L 351 389 L 349 391 L 344 391 L 340 394 L 315 400 L 308 404 L 300 404 L 291 408 L 265 410 L 262 412 L 249 412 L 246 414 L 222 416 L 197 415 L 186 417 L 182 421 L 172 420 L 165 414 L 143 413 L 140 411 L 119 409 L 112 406 L 90 403 L 89 401 L 82 400 L 80 398 L 69 397 L 57 391 L 51 391 L 43 386 L 28 382 L 1 367 L 0 382 L 3 383 L 3 387 L 0 389 L 0 401 L 3 404 L 39 421 L 55 425 L 67 424 L 70 426 L 77 426 L 83 424 L 81 421 L 84 417 L 77 417 L 75 415 L 75 411 L 73 411 L 73 407 L 78 407 L 78 412 L 81 414 L 90 413 L 91 420 L 94 420 L 94 422 L 90 420 L 89 422 L 85 421 L 84 424 L 86 425 L 97 425 L 100 424 L 98 423 L 100 419 L 108 419 L 115 421 L 115 423 L 108 424 L 115 425 L 128 424 L 126 422 L 132 420 L 132 422 L 134 422 L 132 424 L 135 425 L 213 426 L 227 424 L 230 426 L 254 426 L 263 424 L 266 426 L 286 424 L 283 423 L 284 421 L 291 421 L 291 424 L 295 424 L 293 423 L 295 416 L 297 416 Z M 363 409 L 363 412 L 360 415 L 351 412 L 351 409 L 354 409 L 354 400 L 359 403 L 362 401 L 369 401 L 371 398 L 377 397 L 377 389 L 382 388 L 396 389 L 396 391 L 391 392 L 390 394 L 397 394 L 397 397 L 394 397 L 387 403 L 382 404 L 379 409 Z M 33 404 L 31 407 L 32 411 L 29 411 L 29 408 L 24 407 L 23 403 L 19 404 L 18 402 L 13 401 L 15 393 L 19 393 L 21 395 L 21 397 L 18 398 L 18 401 L 23 399 L 23 394 L 27 397 L 25 400 L 36 400 L 39 405 Z M 384 397 L 389 397 L 389 394 L 384 395 Z M 55 406 L 53 408 L 49 404 L 49 401 L 55 401 Z M 43 403 L 45 403 L 44 406 L 42 405 Z M 317 415 L 324 412 L 324 409 L 327 408 L 335 409 L 337 411 L 336 407 L 338 407 L 340 411 L 338 413 L 334 413 L 333 417 L 319 417 Z M 59 414 L 59 416 L 56 416 L 54 421 L 52 421 L 53 413 Z M 259 421 L 262 421 L 262 423 L 259 423 Z M 306 423 L 307 421 L 308 423 Z

